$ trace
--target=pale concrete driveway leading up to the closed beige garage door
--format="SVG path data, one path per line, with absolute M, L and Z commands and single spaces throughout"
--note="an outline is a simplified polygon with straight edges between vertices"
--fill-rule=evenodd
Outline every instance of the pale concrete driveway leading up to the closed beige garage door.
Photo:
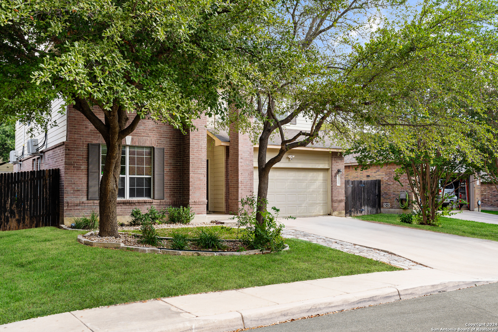
M 387 250 L 463 277 L 498 277 L 497 241 L 332 216 L 283 223 L 286 228 Z

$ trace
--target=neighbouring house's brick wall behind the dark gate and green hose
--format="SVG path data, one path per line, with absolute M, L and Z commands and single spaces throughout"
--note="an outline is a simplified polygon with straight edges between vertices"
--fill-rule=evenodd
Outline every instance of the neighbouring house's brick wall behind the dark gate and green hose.
M 394 171 L 398 168 L 395 164 L 384 164 L 382 166 L 373 165 L 370 169 L 360 171 L 355 170 L 356 166 L 347 165 L 345 166 L 345 180 L 377 180 L 380 179 L 380 208 L 381 209 L 400 209 L 399 202 L 395 199 L 399 198 L 400 191 L 406 191 L 410 197 L 413 199 L 413 194 L 408 184 L 408 179 L 406 175 L 403 174 L 400 177 L 400 181 L 403 187 L 394 180 Z M 367 175 L 370 177 L 367 178 Z M 384 208 L 384 203 L 389 203 L 389 208 Z

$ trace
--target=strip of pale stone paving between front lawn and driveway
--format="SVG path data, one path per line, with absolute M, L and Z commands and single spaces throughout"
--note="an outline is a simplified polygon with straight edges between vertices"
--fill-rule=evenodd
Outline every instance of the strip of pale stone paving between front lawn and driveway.
M 284 229 L 282 231 L 282 237 L 285 238 L 298 238 L 305 241 L 310 241 L 313 243 L 318 243 L 338 249 L 344 252 L 348 252 L 354 255 L 371 258 L 373 260 L 384 262 L 396 267 L 400 267 L 404 270 L 423 270 L 429 269 L 429 267 L 419 264 L 417 262 L 411 261 L 407 258 L 390 254 L 381 250 L 364 247 L 361 245 L 356 245 L 350 242 L 344 242 L 340 240 L 335 240 L 333 238 L 315 235 L 307 232 L 303 232 L 295 229 Z

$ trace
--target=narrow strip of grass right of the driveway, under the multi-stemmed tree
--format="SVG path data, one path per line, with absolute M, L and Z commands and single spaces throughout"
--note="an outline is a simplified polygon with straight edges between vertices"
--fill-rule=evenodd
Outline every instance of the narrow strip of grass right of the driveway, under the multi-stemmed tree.
M 426 226 L 418 224 L 410 224 L 399 221 L 398 215 L 391 214 L 378 214 L 378 215 L 366 215 L 353 217 L 355 219 L 366 220 L 366 221 L 377 221 L 383 223 L 390 223 L 393 225 L 402 225 L 419 229 L 427 229 L 438 231 L 441 233 L 469 236 L 469 237 L 479 237 L 488 240 L 498 241 L 498 225 L 493 223 L 478 222 L 478 221 L 467 221 L 461 219 L 453 219 L 447 217 L 441 217 L 441 226 Z

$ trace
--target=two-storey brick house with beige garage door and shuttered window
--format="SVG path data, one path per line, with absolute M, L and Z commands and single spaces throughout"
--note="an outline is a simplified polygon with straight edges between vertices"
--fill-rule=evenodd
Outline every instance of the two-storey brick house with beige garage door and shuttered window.
M 59 168 L 61 223 L 69 224 L 74 217 L 99 209 L 98 184 L 106 146 L 79 111 L 68 106 L 64 114 L 58 113 L 60 103 L 52 103 L 54 126 L 46 135 L 33 137 L 38 139 L 41 155 L 27 153 L 29 126 L 16 124 L 15 149 L 24 154 L 14 172 Z M 96 114 L 103 118 L 103 113 Z M 203 222 L 210 215 L 236 212 L 240 199 L 252 195 L 257 188 L 258 147 L 233 127 L 229 133 L 214 129 L 214 119 L 202 116 L 194 123 L 197 130 L 184 135 L 169 125 L 143 119 L 124 138 L 118 221 L 129 221 L 134 207 L 145 211 L 150 206 L 190 205 L 194 221 Z M 293 123 L 286 130 L 310 128 L 299 117 Z M 279 145 L 270 143 L 268 157 Z M 344 179 L 339 186 L 331 180 L 343 166 L 338 146 L 291 150 L 271 171 L 270 206 L 280 208 L 280 216 L 344 216 Z

